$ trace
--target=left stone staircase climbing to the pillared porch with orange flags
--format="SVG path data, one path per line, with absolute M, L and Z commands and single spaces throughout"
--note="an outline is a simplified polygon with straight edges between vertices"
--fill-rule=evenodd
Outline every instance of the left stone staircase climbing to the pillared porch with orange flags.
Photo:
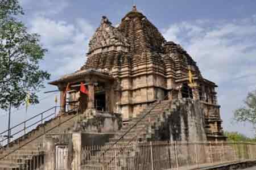
M 76 114 L 60 114 L 60 116 L 38 125 L 35 129 L 15 139 L 9 145 L 3 146 L 0 149 L 0 158 L 5 158 L 0 159 L 0 170 L 20 167 L 24 169 L 39 169 L 44 162 L 43 134 L 67 133 L 71 130 L 75 121 Z M 33 165 L 28 167 L 31 162 Z

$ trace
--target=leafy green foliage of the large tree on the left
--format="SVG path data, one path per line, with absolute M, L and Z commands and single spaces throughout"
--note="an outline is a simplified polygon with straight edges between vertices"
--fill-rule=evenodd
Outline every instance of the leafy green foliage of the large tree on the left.
M 30 92 L 30 102 L 38 103 L 36 92 L 49 79 L 39 67 L 46 49 L 39 35 L 28 33 L 22 22 L 15 19 L 23 14 L 17 0 L 0 0 L 0 108 L 9 104 L 19 107 Z

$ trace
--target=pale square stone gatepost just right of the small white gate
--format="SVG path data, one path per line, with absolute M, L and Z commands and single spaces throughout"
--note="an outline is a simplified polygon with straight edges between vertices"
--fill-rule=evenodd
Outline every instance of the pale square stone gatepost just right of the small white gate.
M 81 140 L 82 140 L 81 133 L 72 134 L 72 143 L 73 143 L 72 170 L 81 170 L 81 154 L 82 154 Z

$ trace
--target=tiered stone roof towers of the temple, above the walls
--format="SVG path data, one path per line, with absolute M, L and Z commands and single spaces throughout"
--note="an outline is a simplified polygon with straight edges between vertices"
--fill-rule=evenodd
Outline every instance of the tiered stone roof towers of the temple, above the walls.
M 138 69 L 142 65 L 145 67 Z M 192 57 L 179 44 L 167 42 L 135 6 L 117 28 L 108 18 L 102 18 L 100 27 L 89 42 L 87 61 L 81 70 L 112 70 L 124 66 L 129 67 L 127 75 L 134 76 L 146 71 L 183 78 L 187 76 L 188 66 L 201 76 Z

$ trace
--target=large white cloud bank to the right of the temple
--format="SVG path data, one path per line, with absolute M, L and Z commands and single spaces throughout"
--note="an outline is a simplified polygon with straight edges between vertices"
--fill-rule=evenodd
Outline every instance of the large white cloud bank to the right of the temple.
M 224 127 L 231 127 L 232 111 L 242 105 L 250 90 L 256 89 L 256 20 L 210 22 L 200 20 L 171 25 L 164 30 L 168 41 L 184 46 L 198 63 L 202 74 L 219 86 Z M 251 135 L 249 131 L 241 131 Z

